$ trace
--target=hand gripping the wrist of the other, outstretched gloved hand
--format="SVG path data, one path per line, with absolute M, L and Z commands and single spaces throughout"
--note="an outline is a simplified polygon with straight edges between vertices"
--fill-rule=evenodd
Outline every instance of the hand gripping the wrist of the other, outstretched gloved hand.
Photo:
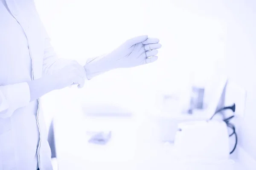
M 83 88 L 84 79 L 86 79 L 84 67 L 75 60 L 72 60 L 64 68 L 53 71 L 50 76 L 55 89 L 62 89 L 70 85 L 78 85 L 78 88 Z

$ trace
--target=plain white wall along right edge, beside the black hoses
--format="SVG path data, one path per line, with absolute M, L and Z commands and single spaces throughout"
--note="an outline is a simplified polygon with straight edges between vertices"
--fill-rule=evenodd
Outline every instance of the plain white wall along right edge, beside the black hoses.
M 239 127 L 239 145 L 256 160 L 256 3 L 230 3 L 227 34 L 227 72 L 247 90 L 245 117 Z

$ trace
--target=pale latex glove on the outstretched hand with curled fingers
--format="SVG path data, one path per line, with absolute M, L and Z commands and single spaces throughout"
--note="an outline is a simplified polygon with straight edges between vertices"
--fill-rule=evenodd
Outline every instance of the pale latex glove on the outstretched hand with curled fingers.
M 88 77 L 94 77 L 115 68 L 148 64 L 157 60 L 157 49 L 161 47 L 157 38 L 148 38 L 147 35 L 134 37 L 105 56 L 87 59 L 84 68 L 90 74 Z

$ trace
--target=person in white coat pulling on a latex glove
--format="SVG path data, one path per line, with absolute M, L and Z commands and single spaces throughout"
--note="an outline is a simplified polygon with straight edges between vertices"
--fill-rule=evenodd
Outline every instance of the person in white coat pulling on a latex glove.
M 41 96 L 154 62 L 160 47 L 143 35 L 80 65 L 56 56 L 33 0 L 0 0 L 0 170 L 52 170 Z

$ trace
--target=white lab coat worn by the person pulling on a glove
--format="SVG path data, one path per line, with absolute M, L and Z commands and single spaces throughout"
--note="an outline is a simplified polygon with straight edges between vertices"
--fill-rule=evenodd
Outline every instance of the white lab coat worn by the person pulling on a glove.
M 0 0 L 0 170 L 52 170 L 40 99 L 32 79 L 57 59 L 33 0 Z

